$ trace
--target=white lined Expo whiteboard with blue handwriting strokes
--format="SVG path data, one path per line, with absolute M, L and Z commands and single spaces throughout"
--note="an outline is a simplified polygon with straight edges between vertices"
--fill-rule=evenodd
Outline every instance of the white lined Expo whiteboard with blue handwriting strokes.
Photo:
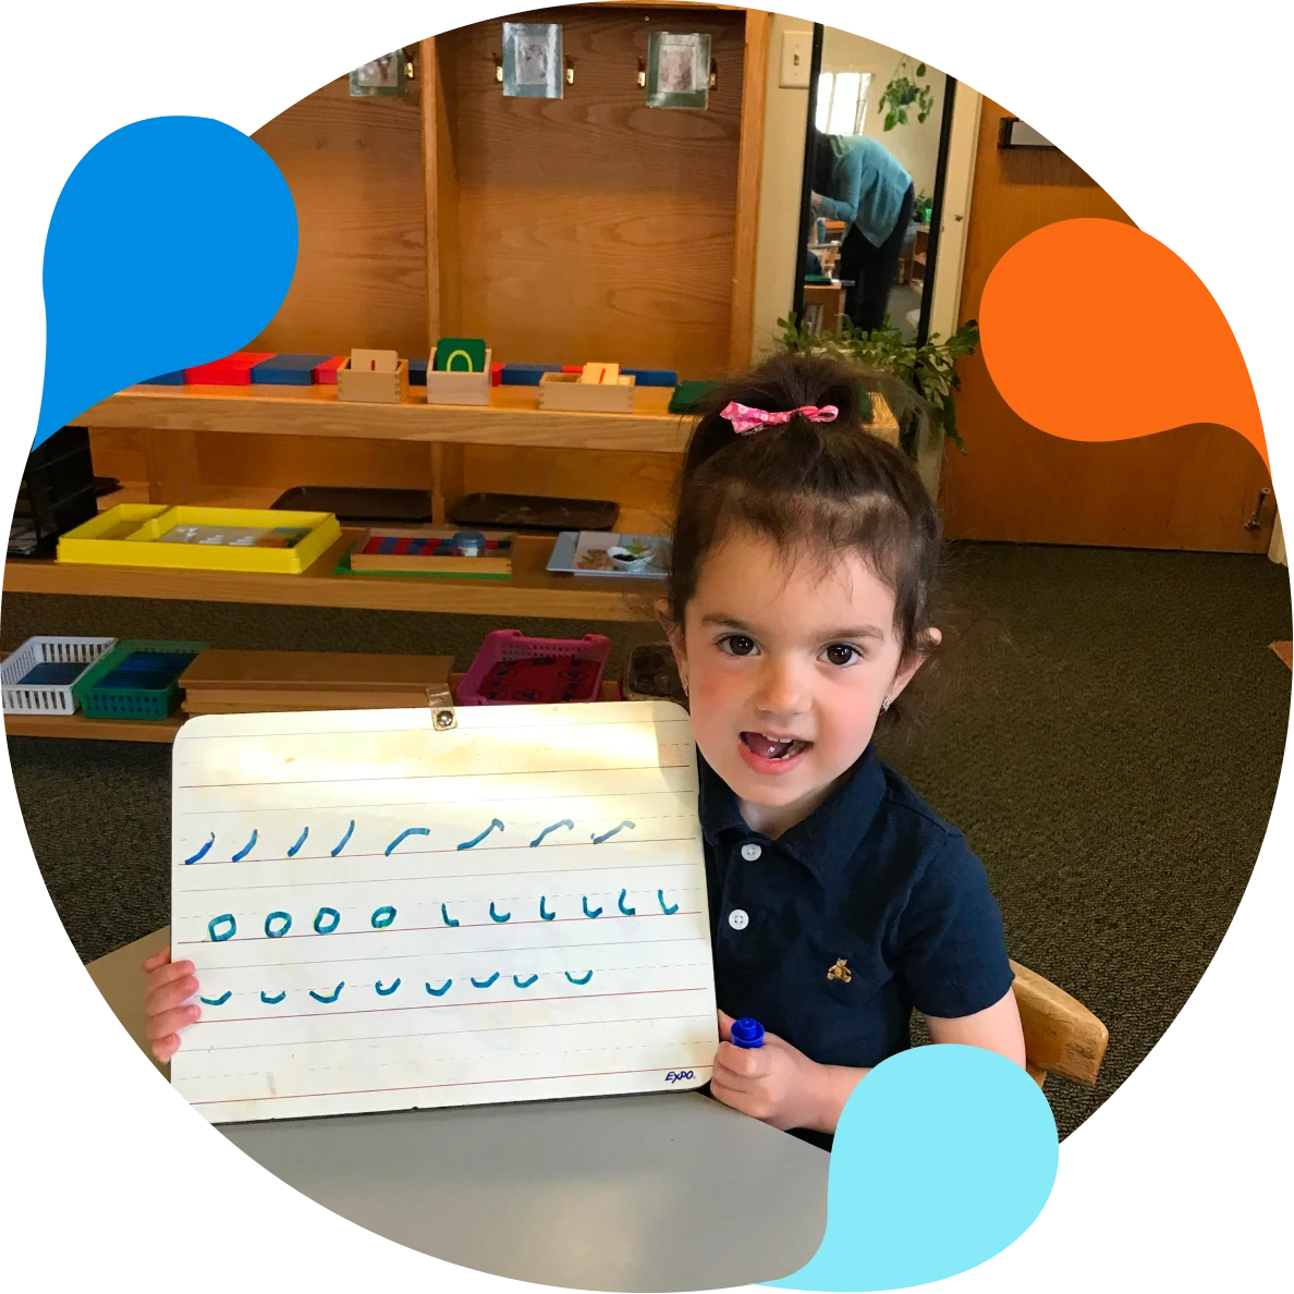
M 171 1062 L 206 1122 L 700 1087 L 718 1044 L 672 703 L 201 716 L 172 762 Z

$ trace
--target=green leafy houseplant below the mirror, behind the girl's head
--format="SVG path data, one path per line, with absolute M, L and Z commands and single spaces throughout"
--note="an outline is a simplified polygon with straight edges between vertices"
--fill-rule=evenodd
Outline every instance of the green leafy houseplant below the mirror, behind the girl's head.
M 873 333 L 855 329 L 848 318 L 841 321 L 836 336 L 822 336 L 795 316 L 778 320 L 782 344 L 789 351 L 837 355 L 858 365 L 866 374 L 866 386 L 885 399 L 894 410 L 903 448 L 916 455 L 919 446 L 947 437 L 964 454 L 965 441 L 958 431 L 956 392 L 961 388 L 958 360 L 973 355 L 980 344 L 980 327 L 974 320 L 963 324 L 947 340 L 938 333 L 924 345 L 905 339 L 889 316 Z

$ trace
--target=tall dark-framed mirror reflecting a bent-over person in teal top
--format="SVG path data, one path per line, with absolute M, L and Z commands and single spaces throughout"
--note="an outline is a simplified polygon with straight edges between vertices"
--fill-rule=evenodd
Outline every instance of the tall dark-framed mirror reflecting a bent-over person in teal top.
M 814 25 L 796 314 L 814 331 L 886 320 L 929 331 L 947 74 L 841 27 Z

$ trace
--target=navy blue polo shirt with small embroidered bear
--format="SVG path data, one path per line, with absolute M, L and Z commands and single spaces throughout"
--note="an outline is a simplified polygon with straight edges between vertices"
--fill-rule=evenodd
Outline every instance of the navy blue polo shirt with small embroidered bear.
M 910 1046 L 914 1007 L 970 1016 L 1014 978 L 983 864 L 868 745 L 778 840 L 697 753 L 718 1005 L 822 1065 Z M 822 1144 L 822 1143 L 819 1143 Z

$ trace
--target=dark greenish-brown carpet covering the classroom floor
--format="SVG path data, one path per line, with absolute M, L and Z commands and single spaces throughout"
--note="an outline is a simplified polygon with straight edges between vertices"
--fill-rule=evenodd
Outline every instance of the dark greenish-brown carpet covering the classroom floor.
M 1266 559 L 959 547 L 928 716 L 883 753 L 985 861 L 1012 956 L 1110 1031 L 1095 1091 L 1049 1079 L 1069 1136 L 1193 995 L 1244 902 L 1285 758 L 1290 572 Z M 0 646 L 35 633 L 216 647 L 440 652 L 484 617 L 4 594 Z M 650 625 L 600 631 L 616 652 Z M 63 929 L 88 961 L 166 925 L 170 747 L 10 739 L 13 784 Z M 917 1030 L 916 1038 L 921 1040 Z

